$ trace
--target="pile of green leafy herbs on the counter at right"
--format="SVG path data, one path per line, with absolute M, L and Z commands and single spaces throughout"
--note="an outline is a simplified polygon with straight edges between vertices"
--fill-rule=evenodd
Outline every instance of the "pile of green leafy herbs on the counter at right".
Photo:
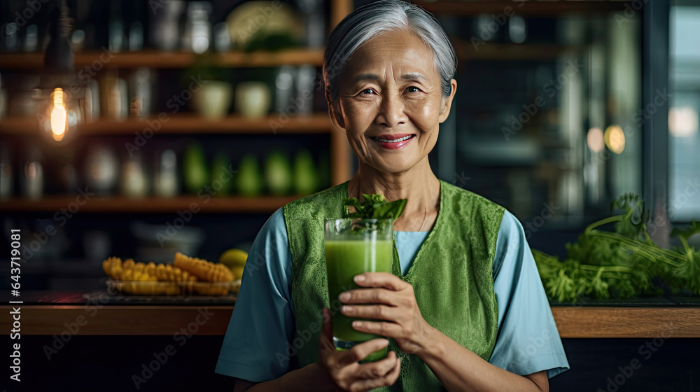
M 661 295 L 654 279 L 675 292 L 688 288 L 700 294 L 700 252 L 688 246 L 688 237 L 700 232 L 700 222 L 686 230 L 673 230 L 683 248 L 659 248 L 647 233 L 649 211 L 626 193 L 610 205 L 621 214 L 591 223 L 574 244 L 566 244 L 566 260 L 533 249 L 547 296 L 559 302 L 576 302 L 582 295 L 629 298 Z M 598 230 L 615 223 L 613 232 Z

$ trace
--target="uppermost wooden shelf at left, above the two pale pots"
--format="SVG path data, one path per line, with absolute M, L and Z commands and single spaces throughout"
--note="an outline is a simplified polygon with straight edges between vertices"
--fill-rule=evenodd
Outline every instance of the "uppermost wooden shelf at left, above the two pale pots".
M 279 52 L 223 52 L 211 56 L 214 66 L 246 67 L 246 66 L 281 66 L 323 64 L 321 49 L 290 49 Z M 195 64 L 197 55 L 191 52 L 162 52 L 160 50 L 141 50 L 139 52 L 104 51 L 77 52 L 73 63 L 76 69 L 91 66 L 92 69 L 106 68 L 171 68 L 185 69 Z M 96 65 L 99 64 L 99 65 Z M 43 53 L 12 53 L 0 55 L 0 69 L 41 69 L 43 68 Z

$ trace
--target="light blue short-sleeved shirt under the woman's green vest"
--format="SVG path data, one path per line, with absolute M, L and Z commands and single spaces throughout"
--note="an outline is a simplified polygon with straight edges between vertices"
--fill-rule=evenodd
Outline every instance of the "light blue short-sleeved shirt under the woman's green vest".
M 428 232 L 394 232 L 403 274 Z M 253 382 L 286 374 L 288 342 L 294 339 L 292 260 L 282 209 L 267 220 L 253 242 L 241 290 L 226 331 L 216 372 Z M 515 374 L 565 370 L 559 332 L 535 260 L 517 218 L 505 211 L 493 260 L 498 337 L 489 363 Z M 286 358 L 286 357 L 284 357 Z

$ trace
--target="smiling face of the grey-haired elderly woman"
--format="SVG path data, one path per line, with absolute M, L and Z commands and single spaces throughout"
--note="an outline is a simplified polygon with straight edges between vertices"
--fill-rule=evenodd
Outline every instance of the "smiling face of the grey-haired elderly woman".
M 389 31 L 349 58 L 335 119 L 365 164 L 405 172 L 433 150 L 456 90 L 451 84 L 443 98 L 433 51 L 407 31 Z

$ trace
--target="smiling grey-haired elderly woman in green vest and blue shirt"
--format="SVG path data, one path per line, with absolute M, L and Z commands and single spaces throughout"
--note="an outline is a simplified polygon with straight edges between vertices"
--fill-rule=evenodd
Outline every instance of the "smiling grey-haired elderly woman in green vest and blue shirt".
M 235 391 L 547 391 L 568 368 L 517 219 L 430 169 L 455 69 L 440 25 L 409 3 L 358 8 L 332 31 L 325 95 L 359 169 L 276 211 L 255 239 L 216 365 Z M 336 351 L 323 218 L 363 193 L 407 199 L 398 254 L 393 274 L 356 276 L 363 288 L 340 295 L 339 311 L 376 319 L 353 328 L 388 339 Z M 386 358 L 360 363 L 387 345 Z

